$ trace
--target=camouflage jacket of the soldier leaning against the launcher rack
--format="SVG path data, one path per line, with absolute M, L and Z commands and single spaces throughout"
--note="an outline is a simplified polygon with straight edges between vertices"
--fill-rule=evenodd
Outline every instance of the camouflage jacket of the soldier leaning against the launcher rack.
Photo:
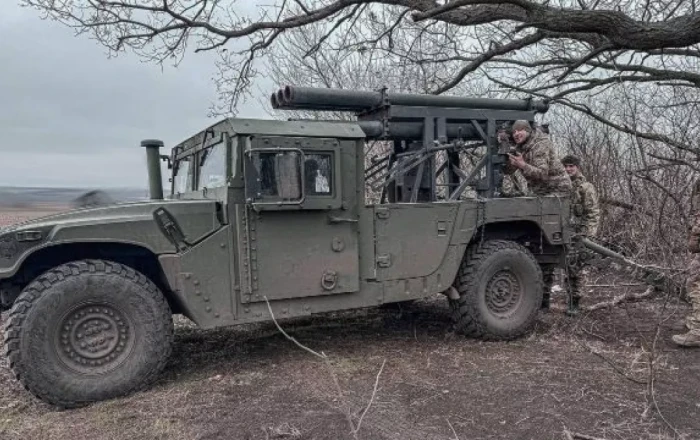
M 515 146 L 514 149 L 525 159 L 525 167 L 521 172 L 533 195 L 570 194 L 571 179 L 547 134 L 535 130 L 524 144 Z M 506 165 L 504 169 L 506 174 L 512 174 L 515 170 L 511 165 Z

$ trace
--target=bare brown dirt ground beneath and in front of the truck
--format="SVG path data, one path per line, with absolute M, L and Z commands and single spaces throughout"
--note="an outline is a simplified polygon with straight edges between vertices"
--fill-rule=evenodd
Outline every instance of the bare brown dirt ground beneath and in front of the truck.
M 644 290 L 593 275 L 586 304 Z M 330 367 L 274 324 L 202 331 L 176 317 L 160 380 L 87 408 L 40 403 L 0 358 L 0 438 L 352 439 L 348 414 L 356 424 L 376 381 L 360 439 L 696 439 L 700 349 L 670 342 L 687 311 L 660 293 L 568 318 L 557 296 L 532 335 L 507 343 L 450 333 L 440 296 L 280 320 Z

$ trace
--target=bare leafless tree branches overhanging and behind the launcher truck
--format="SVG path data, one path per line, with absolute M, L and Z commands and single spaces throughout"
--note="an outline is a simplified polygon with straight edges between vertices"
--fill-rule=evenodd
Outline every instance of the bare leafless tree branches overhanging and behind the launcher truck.
M 682 249 L 700 171 L 695 0 L 21 1 L 113 53 L 163 63 L 216 51 L 217 115 L 270 72 L 300 85 L 545 98 L 553 136 L 584 156 L 609 206 L 604 232 L 630 252 L 658 252 L 649 231 Z

